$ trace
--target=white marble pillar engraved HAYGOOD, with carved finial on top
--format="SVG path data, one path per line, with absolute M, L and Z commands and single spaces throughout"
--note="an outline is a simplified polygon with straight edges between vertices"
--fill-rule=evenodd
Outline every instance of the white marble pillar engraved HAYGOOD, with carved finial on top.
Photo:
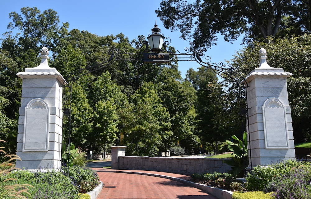
M 63 76 L 48 65 L 49 50 L 41 49 L 41 63 L 18 75 L 23 79 L 18 118 L 16 168 L 61 166 Z

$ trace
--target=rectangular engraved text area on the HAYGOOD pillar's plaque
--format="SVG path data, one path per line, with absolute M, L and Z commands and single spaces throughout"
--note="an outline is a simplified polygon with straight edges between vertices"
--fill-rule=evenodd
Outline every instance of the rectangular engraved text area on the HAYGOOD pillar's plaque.
M 24 150 L 47 149 L 48 109 L 27 109 Z

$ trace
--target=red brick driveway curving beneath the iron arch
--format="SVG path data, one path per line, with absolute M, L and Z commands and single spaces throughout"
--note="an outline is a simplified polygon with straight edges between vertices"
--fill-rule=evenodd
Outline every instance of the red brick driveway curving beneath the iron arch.
M 190 179 L 187 175 L 170 174 L 156 171 L 135 171 L 123 170 L 126 172 L 146 173 L 127 174 L 118 173 L 122 170 L 96 168 L 100 180 L 104 183 L 104 188 L 97 199 L 159 199 L 159 198 L 180 198 L 180 199 L 217 199 L 200 189 L 187 186 L 174 180 L 149 176 L 148 174 L 158 174 L 183 180 Z

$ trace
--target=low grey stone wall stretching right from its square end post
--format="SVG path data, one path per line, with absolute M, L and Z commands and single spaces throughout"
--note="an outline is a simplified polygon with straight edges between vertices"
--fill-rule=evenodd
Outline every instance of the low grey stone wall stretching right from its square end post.
M 230 159 L 119 156 L 118 169 L 182 174 L 201 174 L 214 171 L 226 173 L 231 170 L 231 166 L 223 163 L 223 160 Z

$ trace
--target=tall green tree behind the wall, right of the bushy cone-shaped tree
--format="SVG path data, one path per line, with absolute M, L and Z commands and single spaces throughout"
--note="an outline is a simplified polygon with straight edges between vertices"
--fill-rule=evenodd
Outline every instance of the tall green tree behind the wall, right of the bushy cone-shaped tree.
M 173 68 L 168 69 L 165 67 L 164 70 L 166 72 L 162 75 L 165 78 L 158 83 L 158 92 L 163 106 L 169 112 L 172 125 L 171 131 L 173 134 L 165 141 L 165 148 L 167 148 L 167 144 L 177 143 L 177 141 L 181 141 L 186 137 L 190 140 L 190 137 L 193 136 L 196 94 L 188 81 L 181 82 L 179 73 Z M 173 76 L 169 76 L 169 74 Z M 187 147 L 190 149 L 192 143 L 189 143 Z

